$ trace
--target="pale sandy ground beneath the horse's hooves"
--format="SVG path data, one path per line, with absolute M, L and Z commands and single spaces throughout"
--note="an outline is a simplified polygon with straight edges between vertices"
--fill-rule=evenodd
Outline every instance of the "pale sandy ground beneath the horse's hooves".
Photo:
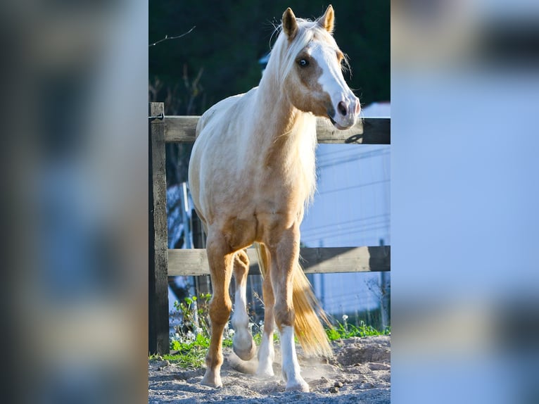
M 298 347 L 301 374 L 310 393 L 286 392 L 281 380 L 279 346 L 275 377 L 259 380 L 234 370 L 239 359 L 224 349 L 223 387 L 201 386 L 204 369 L 184 370 L 166 360 L 148 362 L 148 403 L 390 403 L 390 337 L 372 336 L 334 343 L 334 358 L 305 358 Z

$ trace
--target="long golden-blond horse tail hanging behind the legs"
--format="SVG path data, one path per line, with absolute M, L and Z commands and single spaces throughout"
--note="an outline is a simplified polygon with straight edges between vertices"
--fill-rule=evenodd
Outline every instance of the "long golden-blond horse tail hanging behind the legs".
M 268 251 L 263 244 L 255 243 L 258 265 L 262 277 L 267 273 Z M 331 346 L 322 326 L 322 321 L 331 327 L 324 310 L 320 306 L 309 279 L 305 276 L 300 263 L 293 268 L 292 304 L 295 312 L 294 332 L 307 355 L 331 356 Z

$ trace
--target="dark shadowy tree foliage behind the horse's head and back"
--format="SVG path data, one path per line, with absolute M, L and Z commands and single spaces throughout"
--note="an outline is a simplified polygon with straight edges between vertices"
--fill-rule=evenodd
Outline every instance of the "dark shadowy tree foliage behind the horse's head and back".
M 270 51 L 272 32 L 286 7 L 298 17 L 317 18 L 330 1 L 150 0 L 148 44 L 150 101 L 165 102 L 167 115 L 201 115 L 217 101 L 258 85 L 258 59 Z M 390 0 L 331 1 L 335 39 L 348 54 L 345 75 L 362 105 L 390 99 Z M 274 39 L 274 38 L 273 38 Z M 170 148 L 168 148 L 170 149 Z M 186 180 L 190 148 L 175 153 L 170 184 Z M 168 156 L 167 156 L 168 158 Z M 167 172 L 169 175 L 169 172 Z

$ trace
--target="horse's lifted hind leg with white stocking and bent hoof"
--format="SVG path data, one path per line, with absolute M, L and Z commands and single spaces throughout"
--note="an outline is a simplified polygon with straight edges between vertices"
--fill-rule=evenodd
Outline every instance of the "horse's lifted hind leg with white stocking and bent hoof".
M 234 327 L 234 339 L 232 348 L 234 353 L 242 360 L 251 360 L 256 353 L 255 341 L 249 332 L 249 316 L 247 314 L 247 275 L 249 272 L 249 258 L 246 250 L 241 250 L 234 255 L 234 282 L 236 293 L 234 296 L 234 314 L 232 315 L 232 327 Z

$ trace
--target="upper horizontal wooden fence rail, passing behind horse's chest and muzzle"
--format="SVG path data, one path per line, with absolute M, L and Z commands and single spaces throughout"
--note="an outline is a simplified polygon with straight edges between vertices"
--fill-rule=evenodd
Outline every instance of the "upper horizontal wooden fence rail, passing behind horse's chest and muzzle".
M 189 143 L 195 141 L 198 116 L 166 116 L 165 141 Z M 337 130 L 329 119 L 317 119 L 319 143 L 331 144 L 391 144 L 390 118 L 364 118 L 351 129 Z

